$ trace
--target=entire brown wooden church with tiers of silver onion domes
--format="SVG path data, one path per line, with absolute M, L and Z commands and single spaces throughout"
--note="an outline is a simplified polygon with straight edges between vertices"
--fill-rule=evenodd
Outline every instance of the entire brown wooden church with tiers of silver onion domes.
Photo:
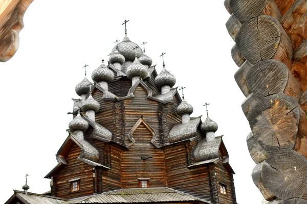
M 45 176 L 50 192 L 14 190 L 11 203 L 236 203 L 217 124 L 190 117 L 175 77 L 127 35 L 108 64 L 76 86 L 69 136 Z

